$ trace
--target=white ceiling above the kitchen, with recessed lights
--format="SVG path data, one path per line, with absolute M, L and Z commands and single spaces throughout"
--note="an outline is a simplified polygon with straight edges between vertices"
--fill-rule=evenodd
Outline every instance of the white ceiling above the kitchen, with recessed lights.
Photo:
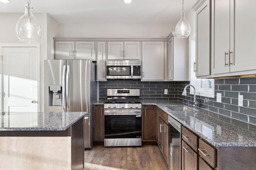
M 197 0 L 184 0 L 187 12 Z M 1 13 L 24 13 L 26 0 L 0 2 Z M 48 13 L 58 23 L 176 23 L 182 0 L 31 0 L 34 13 Z

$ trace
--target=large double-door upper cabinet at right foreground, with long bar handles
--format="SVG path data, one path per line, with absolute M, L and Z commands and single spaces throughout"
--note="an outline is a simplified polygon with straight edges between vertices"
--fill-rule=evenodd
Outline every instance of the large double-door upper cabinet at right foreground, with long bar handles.
M 253 0 L 212 0 L 212 74 L 255 74 L 255 8 Z

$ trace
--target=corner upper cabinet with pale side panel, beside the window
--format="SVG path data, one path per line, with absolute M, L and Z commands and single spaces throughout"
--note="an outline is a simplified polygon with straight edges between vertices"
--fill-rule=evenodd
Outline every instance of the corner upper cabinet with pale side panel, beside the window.
M 177 38 L 174 32 L 168 40 L 168 80 L 188 81 L 188 38 Z

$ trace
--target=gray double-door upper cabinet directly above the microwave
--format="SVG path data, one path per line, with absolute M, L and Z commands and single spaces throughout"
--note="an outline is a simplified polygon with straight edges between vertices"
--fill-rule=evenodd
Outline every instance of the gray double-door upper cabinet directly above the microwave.
M 108 42 L 108 60 L 140 60 L 140 42 Z

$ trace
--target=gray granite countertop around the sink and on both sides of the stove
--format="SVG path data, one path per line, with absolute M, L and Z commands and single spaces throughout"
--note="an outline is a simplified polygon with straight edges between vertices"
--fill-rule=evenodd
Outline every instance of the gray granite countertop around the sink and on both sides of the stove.
M 198 111 L 172 111 L 166 107 L 193 107 L 182 102 L 141 102 L 142 105 L 158 106 L 168 115 L 216 147 L 256 147 L 256 125 L 201 108 L 196 108 Z M 104 104 L 104 101 L 98 101 L 94 104 L 101 105 Z

